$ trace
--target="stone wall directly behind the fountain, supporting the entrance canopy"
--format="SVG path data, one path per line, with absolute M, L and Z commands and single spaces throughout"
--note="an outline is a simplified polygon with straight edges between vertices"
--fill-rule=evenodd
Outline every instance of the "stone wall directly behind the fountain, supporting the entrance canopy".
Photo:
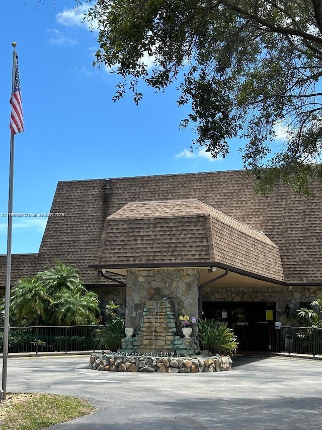
M 198 316 L 198 269 L 150 269 L 127 272 L 125 326 L 137 334 L 147 300 L 168 297 L 176 315 Z

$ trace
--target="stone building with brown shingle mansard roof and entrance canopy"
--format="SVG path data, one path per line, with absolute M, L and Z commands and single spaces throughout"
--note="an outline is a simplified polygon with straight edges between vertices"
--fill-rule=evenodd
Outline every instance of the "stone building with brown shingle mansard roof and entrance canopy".
M 236 331 L 288 325 L 289 308 L 322 296 L 321 194 L 255 195 L 243 170 L 59 182 L 38 254 L 13 255 L 12 284 L 59 260 L 135 330 L 153 296 Z

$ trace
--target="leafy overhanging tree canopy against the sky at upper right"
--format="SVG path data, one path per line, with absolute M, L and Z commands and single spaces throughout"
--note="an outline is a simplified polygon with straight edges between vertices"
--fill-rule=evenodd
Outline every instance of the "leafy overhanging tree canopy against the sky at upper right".
M 320 0 L 97 0 L 86 19 L 99 27 L 94 64 L 120 76 L 114 100 L 176 81 L 193 144 L 225 157 L 241 138 L 260 191 L 322 179 Z

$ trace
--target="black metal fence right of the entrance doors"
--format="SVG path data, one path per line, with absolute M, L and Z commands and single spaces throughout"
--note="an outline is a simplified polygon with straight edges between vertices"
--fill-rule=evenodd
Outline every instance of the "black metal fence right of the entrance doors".
M 238 351 L 322 354 L 322 328 L 240 326 L 234 329 Z

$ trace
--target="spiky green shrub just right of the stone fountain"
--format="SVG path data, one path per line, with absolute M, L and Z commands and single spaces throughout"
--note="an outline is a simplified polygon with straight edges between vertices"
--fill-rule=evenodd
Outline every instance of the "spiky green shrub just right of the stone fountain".
M 198 324 L 197 338 L 201 349 L 207 349 L 212 354 L 232 354 L 239 342 L 227 323 L 201 319 Z

